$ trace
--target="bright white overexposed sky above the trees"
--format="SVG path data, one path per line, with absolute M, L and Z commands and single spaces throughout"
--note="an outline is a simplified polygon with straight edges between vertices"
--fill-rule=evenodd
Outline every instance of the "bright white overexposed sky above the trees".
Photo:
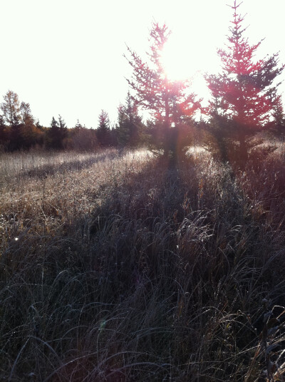
M 170 78 L 194 76 L 193 90 L 207 100 L 202 73 L 219 72 L 217 48 L 227 43 L 233 2 L 0 0 L 0 102 L 16 92 L 45 126 L 60 114 L 69 128 L 77 120 L 96 128 L 102 109 L 115 123 L 131 76 L 123 54 L 130 46 L 145 57 L 153 22 L 172 31 L 165 48 Z M 285 63 L 285 1 L 244 0 L 239 10 L 249 43 L 264 38 L 257 58 L 279 51 Z

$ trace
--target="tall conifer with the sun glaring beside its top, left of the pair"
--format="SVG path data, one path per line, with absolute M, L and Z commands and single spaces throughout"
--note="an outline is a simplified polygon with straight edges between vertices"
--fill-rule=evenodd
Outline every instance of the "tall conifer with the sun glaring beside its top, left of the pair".
M 187 92 L 187 81 L 170 81 L 167 78 L 162 66 L 161 53 L 169 36 L 167 26 L 152 25 L 148 62 L 143 62 L 135 51 L 128 48 L 130 58 L 127 60 L 133 68 L 133 76 L 127 81 L 135 93 L 133 100 L 136 105 L 149 110 L 157 123 L 157 130 L 160 131 L 157 134 L 158 147 L 162 148 L 165 156 L 176 156 L 176 134 L 172 128 L 185 118 L 195 115 L 200 103 L 194 93 Z

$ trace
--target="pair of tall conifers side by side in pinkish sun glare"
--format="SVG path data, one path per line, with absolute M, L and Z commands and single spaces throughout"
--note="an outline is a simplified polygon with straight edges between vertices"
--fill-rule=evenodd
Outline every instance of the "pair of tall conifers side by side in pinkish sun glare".
M 152 113 L 158 138 L 152 143 L 175 162 L 191 144 L 192 131 L 199 133 L 200 145 L 214 158 L 239 168 L 249 159 L 262 159 L 274 150 L 261 145 L 265 135 L 258 133 L 284 135 L 277 80 L 284 65 L 279 64 L 278 53 L 257 60 L 261 41 L 250 45 L 244 36 L 247 29 L 243 28 L 244 17 L 238 14 L 240 5 L 233 1 L 226 47 L 217 51 L 220 73 L 204 75 L 212 95 L 207 107 L 202 107 L 202 99 L 192 91 L 191 83 L 171 81 L 163 70 L 161 52 L 170 36 L 167 26 L 152 25 L 147 61 L 128 47 L 125 57 L 133 69 L 128 83 L 138 105 Z M 197 123 L 199 113 L 202 117 Z

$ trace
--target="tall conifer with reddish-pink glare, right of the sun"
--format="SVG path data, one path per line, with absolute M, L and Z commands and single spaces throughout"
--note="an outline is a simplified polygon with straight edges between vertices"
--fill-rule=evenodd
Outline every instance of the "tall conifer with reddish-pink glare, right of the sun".
M 237 14 L 240 4 L 234 0 L 232 24 L 227 38 L 227 49 L 219 49 L 222 73 L 206 76 L 213 101 L 210 104 L 212 121 L 219 128 L 219 139 L 236 141 L 239 160 L 247 160 L 254 144 L 250 138 L 263 129 L 271 119 L 278 96 L 277 86 L 273 86 L 284 66 L 278 66 L 278 53 L 254 61 L 254 55 L 261 41 L 249 45 L 244 37 L 242 23 L 244 17 Z

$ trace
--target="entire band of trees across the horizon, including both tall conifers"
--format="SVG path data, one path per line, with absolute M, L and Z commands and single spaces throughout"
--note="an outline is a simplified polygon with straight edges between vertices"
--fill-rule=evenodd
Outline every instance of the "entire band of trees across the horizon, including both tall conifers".
M 240 4 L 239 4 L 240 5 Z M 3 150 L 33 147 L 53 150 L 94 150 L 105 147 L 148 145 L 157 153 L 175 160 L 194 142 L 207 148 L 220 160 L 242 161 L 260 151 L 257 133 L 264 130 L 282 138 L 285 116 L 279 83 L 284 70 L 278 53 L 256 60 L 261 41 L 250 45 L 244 36 L 244 17 L 234 1 L 226 48 L 217 54 L 221 70 L 204 78 L 212 95 L 207 108 L 191 92 L 188 81 L 171 81 L 161 62 L 161 52 L 170 35 L 167 26 L 152 24 L 148 61 L 128 47 L 125 55 L 133 69 L 130 92 L 118 106 L 118 120 L 110 126 L 108 112 L 102 110 L 96 128 L 81 123 L 67 127 L 63 117 L 52 117 L 44 127 L 33 118 L 29 103 L 21 102 L 14 91 L 7 91 L 1 103 L 0 146 Z M 150 119 L 142 121 L 140 110 Z M 201 115 L 200 118 L 197 116 Z M 262 149 L 261 155 L 274 150 Z

